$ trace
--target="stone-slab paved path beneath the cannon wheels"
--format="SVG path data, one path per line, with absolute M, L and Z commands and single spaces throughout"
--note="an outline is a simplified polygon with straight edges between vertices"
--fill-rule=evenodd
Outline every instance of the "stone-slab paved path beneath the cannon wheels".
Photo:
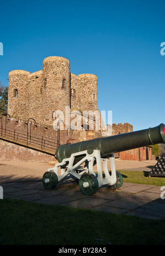
M 0 165 L 2 165 L 1 163 L 0 161 Z M 45 164 L 43 165 L 45 166 Z M 11 163 L 10 168 L 12 166 L 14 169 L 14 164 Z M 3 169 L 2 167 L 4 166 L 0 166 L 0 170 Z M 27 170 L 31 170 L 30 165 L 29 169 L 28 166 L 26 167 Z M 3 173 L 1 175 L 0 171 L 3 198 L 17 198 L 48 205 L 90 208 L 97 211 L 134 215 L 150 220 L 165 219 L 165 199 L 160 198 L 161 192 L 163 192 L 161 187 L 124 182 L 119 190 L 113 191 L 108 186 L 103 186 L 95 195 L 85 196 L 75 182 L 59 182 L 56 189 L 46 190 L 42 185 L 41 177 L 42 175 L 40 177 L 25 175 L 13 178 L 11 174 L 4 175 Z

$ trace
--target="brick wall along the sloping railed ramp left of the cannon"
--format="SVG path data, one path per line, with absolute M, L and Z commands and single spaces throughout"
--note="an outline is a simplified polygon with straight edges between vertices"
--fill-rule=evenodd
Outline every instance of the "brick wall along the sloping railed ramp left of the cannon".
M 3 133 L 2 133 L 3 128 Z M 28 128 L 28 129 L 27 129 Z M 14 142 L 9 143 L 0 139 L 0 159 L 1 160 L 22 160 L 22 161 L 54 161 L 54 156 L 42 153 L 35 149 L 29 149 L 26 146 L 27 131 L 29 133 L 28 145 L 38 144 L 41 145 L 41 138 L 43 138 L 44 144 L 50 143 L 50 147 L 54 153 L 60 145 L 66 143 L 76 143 L 82 140 L 90 140 L 101 136 L 101 133 L 93 132 L 92 130 L 54 130 L 52 126 L 44 126 L 43 124 L 35 123 L 33 120 L 29 120 L 27 123 L 21 119 L 15 119 L 10 117 L 0 117 L 0 133 L 3 138 L 13 138 L 17 143 L 17 140 L 25 143 L 25 147 L 17 145 Z M 1 136 L 1 134 L 0 134 Z M 30 143 L 31 138 L 31 143 Z M 21 142 L 20 142 L 21 143 Z M 46 147 L 45 147 L 46 148 Z

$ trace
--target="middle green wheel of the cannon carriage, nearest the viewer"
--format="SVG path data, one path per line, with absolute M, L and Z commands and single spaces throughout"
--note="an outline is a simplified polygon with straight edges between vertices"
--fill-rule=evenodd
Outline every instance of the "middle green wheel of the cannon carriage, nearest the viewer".
M 93 195 L 98 190 L 98 180 L 93 174 L 84 174 L 79 180 L 80 191 L 87 196 Z

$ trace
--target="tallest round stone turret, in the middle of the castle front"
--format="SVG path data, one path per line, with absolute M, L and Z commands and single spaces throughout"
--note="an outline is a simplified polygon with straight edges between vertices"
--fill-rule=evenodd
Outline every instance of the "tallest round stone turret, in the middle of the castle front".
M 61 110 L 65 120 L 65 106 L 70 106 L 70 62 L 51 56 L 43 60 L 43 122 L 51 123 L 53 112 Z

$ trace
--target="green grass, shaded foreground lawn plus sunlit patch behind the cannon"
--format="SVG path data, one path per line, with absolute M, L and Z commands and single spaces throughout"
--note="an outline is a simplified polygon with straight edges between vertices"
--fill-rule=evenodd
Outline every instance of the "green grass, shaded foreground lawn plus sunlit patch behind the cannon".
M 163 186 L 164 178 L 120 171 L 124 182 Z M 144 220 L 87 209 L 0 200 L 0 244 L 165 244 L 165 220 Z M 99 240 L 101 239 L 101 241 Z

